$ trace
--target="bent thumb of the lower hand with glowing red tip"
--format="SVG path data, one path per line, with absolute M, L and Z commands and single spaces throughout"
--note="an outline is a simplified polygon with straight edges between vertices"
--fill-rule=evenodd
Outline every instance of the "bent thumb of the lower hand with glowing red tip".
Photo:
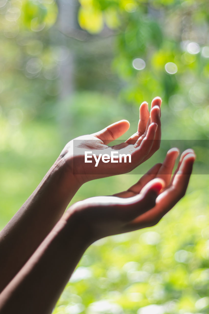
M 156 198 L 163 187 L 164 181 L 162 179 L 153 179 L 143 187 L 140 194 L 127 199 L 129 205 L 123 207 L 126 221 L 129 222 L 153 208 Z

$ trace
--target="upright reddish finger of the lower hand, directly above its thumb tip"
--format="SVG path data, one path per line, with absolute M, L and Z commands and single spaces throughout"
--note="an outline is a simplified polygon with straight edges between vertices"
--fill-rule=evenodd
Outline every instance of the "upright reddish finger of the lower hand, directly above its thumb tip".
M 166 154 L 163 164 L 158 171 L 157 177 L 165 181 L 166 187 L 169 185 L 175 161 L 178 156 L 179 156 L 178 148 L 170 149 Z

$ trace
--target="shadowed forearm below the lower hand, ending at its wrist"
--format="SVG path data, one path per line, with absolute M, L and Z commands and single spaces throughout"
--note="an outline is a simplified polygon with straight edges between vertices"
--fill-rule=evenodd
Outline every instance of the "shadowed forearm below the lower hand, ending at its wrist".
M 64 215 L 65 217 L 65 215 Z M 88 247 L 88 233 L 76 219 L 61 219 L 0 294 L 1 314 L 51 313 Z

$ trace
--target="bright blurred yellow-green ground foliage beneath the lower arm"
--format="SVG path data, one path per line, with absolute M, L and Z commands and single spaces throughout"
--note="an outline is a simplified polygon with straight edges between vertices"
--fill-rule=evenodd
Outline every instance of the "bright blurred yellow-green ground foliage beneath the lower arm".
M 120 181 L 127 187 L 134 179 Z M 156 227 L 94 243 L 54 313 L 70 313 L 75 304 L 81 313 L 115 313 L 115 305 L 119 313 L 136 313 L 151 304 L 156 313 L 208 313 L 208 183 L 208 176 L 194 176 L 187 196 Z M 82 300 L 73 301 L 75 295 Z

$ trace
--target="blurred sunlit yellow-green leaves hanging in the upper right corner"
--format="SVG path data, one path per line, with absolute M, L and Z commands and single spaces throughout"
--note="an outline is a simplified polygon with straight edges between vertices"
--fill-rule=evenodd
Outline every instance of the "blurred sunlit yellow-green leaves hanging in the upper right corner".
M 201 30 L 205 33 L 208 30 L 206 1 L 81 0 L 80 3 L 82 20 L 79 15 L 78 21 L 83 29 L 99 33 L 106 23 L 110 29 L 115 30 L 113 70 L 121 80 L 127 82 L 121 94 L 126 102 L 139 104 L 144 97 L 150 95 L 147 86 L 150 82 L 156 86 L 153 94 L 164 93 L 167 102 L 171 95 L 181 94 L 184 89 L 189 92 L 191 86 L 185 84 L 184 77 L 189 76 L 191 70 L 195 75 L 193 84 L 198 81 L 208 83 L 208 74 L 205 73 L 208 59 L 204 53 L 201 56 L 199 53 L 207 45 L 207 40 L 200 38 Z M 97 19 L 88 15 L 88 12 L 94 10 Z M 112 23 L 113 27 L 110 22 L 106 22 L 107 12 L 111 12 L 109 20 L 111 16 L 116 20 Z M 94 29 L 91 24 L 94 24 Z M 192 35 L 189 36 L 189 33 Z M 200 46 L 197 52 L 188 50 L 190 42 Z M 133 68 L 132 61 L 135 58 L 143 59 L 146 67 Z M 168 62 L 176 64 L 176 74 L 165 70 Z M 141 79 L 144 75 L 147 76 L 145 81 Z M 139 96 L 139 90 L 148 93 Z M 187 101 L 194 104 L 190 98 Z

